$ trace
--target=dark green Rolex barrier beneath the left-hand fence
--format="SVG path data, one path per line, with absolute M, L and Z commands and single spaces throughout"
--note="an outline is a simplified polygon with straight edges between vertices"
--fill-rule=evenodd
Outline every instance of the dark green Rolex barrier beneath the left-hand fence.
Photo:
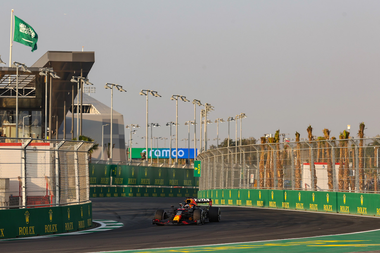
M 0 210 L 0 239 L 60 234 L 90 227 L 91 203 Z

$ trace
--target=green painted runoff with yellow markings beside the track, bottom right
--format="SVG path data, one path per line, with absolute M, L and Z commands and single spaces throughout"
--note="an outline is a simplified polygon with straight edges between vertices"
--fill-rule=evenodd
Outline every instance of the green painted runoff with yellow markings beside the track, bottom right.
M 223 207 L 223 206 L 220 206 Z M 263 209 L 258 207 L 235 207 L 235 208 L 251 208 Z M 268 209 L 268 208 L 265 208 Z M 307 211 L 294 211 L 288 212 L 307 212 Z M 313 213 L 313 212 L 311 212 Z M 345 214 L 329 214 L 329 215 L 345 215 Z M 347 215 L 355 216 L 355 215 Z M 223 214 L 222 214 L 223 217 Z M 373 217 L 374 222 L 380 223 L 380 218 Z M 221 220 L 222 221 L 222 220 Z M 325 222 L 321 220 L 321 222 Z M 181 229 L 183 231 L 183 229 Z M 165 233 L 165 231 L 163 231 Z M 205 233 L 207 233 L 207 225 L 205 226 Z M 206 234 L 204 235 L 206 236 Z M 195 244 L 191 247 L 165 247 L 165 248 L 146 248 L 141 250 L 118 250 L 118 251 L 103 251 L 101 253 L 173 253 L 173 252 L 276 252 L 276 253 L 347 253 L 347 252 L 380 252 L 380 229 L 361 231 L 355 233 L 345 234 L 332 234 L 326 236 L 313 236 L 302 237 L 293 239 L 279 239 L 279 240 L 262 240 L 241 243 L 227 243 L 227 244 L 208 244 L 196 245 L 196 237 L 191 236 Z M 175 242 L 174 242 L 175 244 Z M 97 251 L 100 253 L 99 251 Z M 92 253 L 92 252 L 88 252 Z M 95 252 L 94 252 L 95 253 Z

